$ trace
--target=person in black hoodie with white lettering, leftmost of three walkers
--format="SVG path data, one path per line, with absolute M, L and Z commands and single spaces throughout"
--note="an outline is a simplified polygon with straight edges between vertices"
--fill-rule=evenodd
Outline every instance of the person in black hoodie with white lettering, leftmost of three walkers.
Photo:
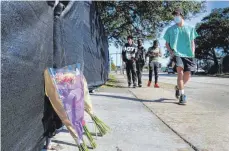
M 126 64 L 126 74 L 128 79 L 128 87 L 131 86 L 131 77 L 133 81 L 133 88 L 136 88 L 136 52 L 137 47 L 133 43 L 133 37 L 127 37 L 128 43 L 126 43 L 122 49 L 122 59 Z

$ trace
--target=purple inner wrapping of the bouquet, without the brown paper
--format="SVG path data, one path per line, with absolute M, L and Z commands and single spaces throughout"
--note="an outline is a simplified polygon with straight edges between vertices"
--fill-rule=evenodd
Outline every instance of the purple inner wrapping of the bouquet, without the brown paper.
M 59 97 L 73 128 L 79 136 L 80 142 L 83 139 L 82 121 L 84 119 L 84 84 L 82 75 L 79 74 L 79 72 L 76 72 L 76 70 L 76 68 L 75 71 L 74 68 L 73 70 L 50 69 Z M 57 73 L 63 73 L 62 79 L 65 80 L 57 81 Z M 67 77 L 65 75 L 70 76 Z

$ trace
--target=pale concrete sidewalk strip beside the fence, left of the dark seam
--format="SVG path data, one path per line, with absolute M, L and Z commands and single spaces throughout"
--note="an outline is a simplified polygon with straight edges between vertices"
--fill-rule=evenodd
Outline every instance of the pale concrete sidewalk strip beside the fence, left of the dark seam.
M 127 88 L 101 89 L 92 94 L 92 100 L 96 114 L 112 129 L 96 139 L 94 151 L 193 150 Z M 92 124 L 89 128 L 93 131 Z M 58 133 L 52 144 L 60 151 L 78 150 L 67 130 Z

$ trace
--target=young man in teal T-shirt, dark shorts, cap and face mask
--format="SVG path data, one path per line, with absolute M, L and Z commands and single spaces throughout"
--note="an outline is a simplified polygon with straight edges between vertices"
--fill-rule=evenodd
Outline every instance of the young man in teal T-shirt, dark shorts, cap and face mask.
M 175 95 L 179 99 L 179 104 L 186 104 L 184 85 L 189 81 L 191 71 L 195 67 L 194 39 L 198 34 L 195 28 L 185 25 L 184 13 L 181 8 L 177 8 L 172 15 L 176 24 L 167 29 L 164 39 L 170 54 L 176 57 L 177 86 L 175 87 Z

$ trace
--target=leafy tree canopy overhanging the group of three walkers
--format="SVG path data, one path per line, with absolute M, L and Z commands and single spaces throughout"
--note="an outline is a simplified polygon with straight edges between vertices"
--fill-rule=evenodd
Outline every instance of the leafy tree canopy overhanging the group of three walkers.
M 183 8 L 186 19 L 205 10 L 203 1 L 98 1 L 96 6 L 109 42 L 117 47 L 127 35 L 146 40 L 160 36 L 177 7 Z

